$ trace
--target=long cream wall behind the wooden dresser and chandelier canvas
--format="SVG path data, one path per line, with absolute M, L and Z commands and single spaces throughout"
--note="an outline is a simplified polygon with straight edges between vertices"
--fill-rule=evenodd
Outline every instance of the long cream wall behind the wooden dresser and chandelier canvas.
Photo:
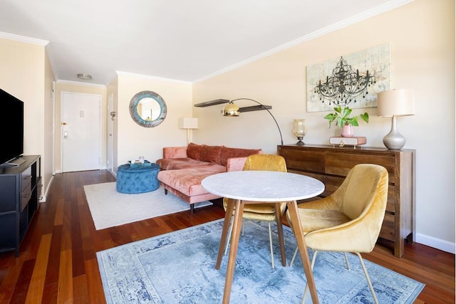
M 218 98 L 252 98 L 272 105 L 285 143 L 296 142 L 293 119 L 305 118 L 304 142 L 328 144 L 338 135 L 328 129 L 328 112 L 306 112 L 306 66 L 366 48 L 390 43 L 391 88 L 415 90 L 416 115 L 398 118 L 407 138 L 404 148 L 415 149 L 416 223 L 419 243 L 455 252 L 455 2 L 415 0 L 398 9 L 333 31 L 193 86 L 193 103 Z M 239 106 L 255 105 L 241 101 Z M 223 105 L 194 108 L 199 118 L 195 142 L 232 147 L 262 148 L 276 153 L 279 132 L 266 111 L 222 117 Z M 367 111 L 371 122 L 355 132 L 368 145 L 383 147 L 390 118 Z

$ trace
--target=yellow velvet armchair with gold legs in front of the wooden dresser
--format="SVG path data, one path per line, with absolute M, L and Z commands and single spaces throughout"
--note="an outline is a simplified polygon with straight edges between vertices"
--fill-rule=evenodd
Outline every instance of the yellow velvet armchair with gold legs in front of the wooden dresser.
M 369 288 L 378 303 L 361 253 L 373 251 L 385 216 L 388 199 L 388 172 L 376 164 L 357 164 L 348 172 L 341 186 L 330 196 L 298 205 L 301 231 L 306 245 L 314 249 L 311 268 L 318 251 L 356 253 Z M 291 223 L 289 213 L 287 219 Z M 291 259 L 293 265 L 296 251 Z M 347 268 L 348 258 L 346 258 Z M 318 287 L 318 286 L 317 286 Z M 306 291 L 304 291 L 304 300 Z

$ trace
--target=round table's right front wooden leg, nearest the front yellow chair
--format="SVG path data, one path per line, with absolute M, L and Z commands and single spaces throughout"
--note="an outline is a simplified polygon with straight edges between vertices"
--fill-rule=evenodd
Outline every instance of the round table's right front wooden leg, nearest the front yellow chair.
M 309 286 L 311 293 L 312 303 L 318 304 L 318 294 L 316 293 L 314 275 L 311 269 L 309 253 L 307 252 L 306 240 L 304 239 L 304 234 L 302 234 L 301 231 L 301 220 L 298 216 L 298 204 L 296 204 L 296 201 L 287 201 L 286 204 L 289 209 L 291 224 L 294 227 L 294 236 L 296 237 L 299 253 L 301 254 L 301 261 L 304 266 L 304 273 L 306 274 L 307 285 Z

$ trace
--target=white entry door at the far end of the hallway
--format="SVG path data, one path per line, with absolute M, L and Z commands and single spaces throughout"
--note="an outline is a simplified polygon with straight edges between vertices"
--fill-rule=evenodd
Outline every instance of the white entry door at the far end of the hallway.
M 62 93 L 62 172 L 100 169 L 101 96 Z

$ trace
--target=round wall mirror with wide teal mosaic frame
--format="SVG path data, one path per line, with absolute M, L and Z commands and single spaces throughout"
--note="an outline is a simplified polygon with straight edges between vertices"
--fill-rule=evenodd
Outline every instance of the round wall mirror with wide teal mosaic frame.
M 130 101 L 130 115 L 142 127 L 155 127 L 165 120 L 166 103 L 152 91 L 141 91 Z

